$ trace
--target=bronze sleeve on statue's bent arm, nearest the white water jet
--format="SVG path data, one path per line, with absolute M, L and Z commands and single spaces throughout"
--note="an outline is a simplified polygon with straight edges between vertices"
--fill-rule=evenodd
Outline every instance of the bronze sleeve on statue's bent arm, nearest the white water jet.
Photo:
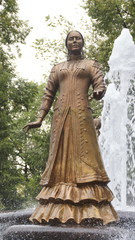
M 100 64 L 95 61 L 92 66 L 92 87 L 93 87 L 93 97 L 96 100 L 100 100 L 105 94 L 105 84 L 104 76 L 101 71 Z

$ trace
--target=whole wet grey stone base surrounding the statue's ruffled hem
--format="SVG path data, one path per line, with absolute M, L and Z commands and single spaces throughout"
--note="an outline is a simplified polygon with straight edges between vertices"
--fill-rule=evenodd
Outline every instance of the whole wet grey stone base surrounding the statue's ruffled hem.
M 3 240 L 135 240 L 135 213 L 118 212 L 120 221 L 106 226 L 81 225 L 34 225 L 29 224 L 30 212 L 21 215 L 18 212 L 4 215 L 3 220 L 9 220 L 13 225 L 6 229 Z M 15 218 L 15 216 L 17 218 Z M 22 218 L 22 225 L 21 223 Z M 18 219 L 18 220 L 17 220 Z M 0 218 L 2 222 L 2 218 Z M 15 221 L 16 220 L 16 221 Z M 9 225 L 8 225 L 9 226 Z

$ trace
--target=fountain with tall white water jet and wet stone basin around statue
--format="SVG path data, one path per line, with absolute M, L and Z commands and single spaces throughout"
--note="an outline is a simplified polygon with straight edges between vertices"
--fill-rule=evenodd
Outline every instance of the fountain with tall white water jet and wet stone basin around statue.
M 134 240 L 135 239 L 135 45 L 128 29 L 116 39 L 109 60 L 110 71 L 102 113 L 100 147 L 116 195 L 114 205 L 120 221 L 109 226 L 33 225 L 28 222 L 32 210 L 1 213 L 3 240 Z M 5 222 L 7 225 L 5 225 Z M 12 226 L 13 225 L 13 226 Z

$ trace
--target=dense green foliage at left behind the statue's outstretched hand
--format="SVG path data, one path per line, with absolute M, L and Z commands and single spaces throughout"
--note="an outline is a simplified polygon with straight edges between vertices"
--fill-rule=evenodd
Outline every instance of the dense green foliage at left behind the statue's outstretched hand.
M 32 204 L 39 191 L 40 174 L 49 152 L 50 115 L 41 129 L 25 134 L 23 127 L 36 118 L 42 94 L 43 85 L 23 79 L 11 81 L 7 88 L 6 113 L 4 108 L 0 112 L 0 205 L 3 209 Z M 4 100 L 4 94 L 1 97 Z

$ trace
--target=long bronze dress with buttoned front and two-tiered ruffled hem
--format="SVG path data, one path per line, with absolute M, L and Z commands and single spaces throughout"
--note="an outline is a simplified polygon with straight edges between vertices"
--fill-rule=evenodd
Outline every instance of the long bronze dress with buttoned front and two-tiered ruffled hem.
M 30 217 L 39 223 L 59 220 L 116 221 L 88 102 L 88 89 L 105 90 L 99 65 L 92 60 L 69 60 L 53 67 L 41 109 L 49 111 L 59 89 L 51 128 L 50 151 L 38 194 L 39 206 Z M 95 95 L 96 96 L 96 95 Z

